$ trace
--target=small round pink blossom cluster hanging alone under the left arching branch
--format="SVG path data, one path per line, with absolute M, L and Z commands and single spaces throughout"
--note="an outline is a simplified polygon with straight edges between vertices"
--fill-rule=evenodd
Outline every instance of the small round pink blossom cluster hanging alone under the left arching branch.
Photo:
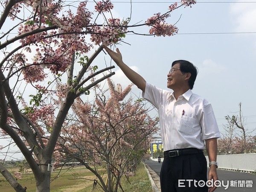
M 43 81 L 47 77 L 47 75 L 44 73 L 43 68 L 39 65 L 32 65 L 26 67 L 22 70 L 22 73 L 26 82 Z

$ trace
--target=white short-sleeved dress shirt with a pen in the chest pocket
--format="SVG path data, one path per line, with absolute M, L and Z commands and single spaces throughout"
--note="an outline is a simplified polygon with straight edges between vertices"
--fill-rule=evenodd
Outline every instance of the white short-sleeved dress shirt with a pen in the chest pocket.
M 204 149 L 204 140 L 221 137 L 212 105 L 190 89 L 176 100 L 173 92 L 147 83 L 142 96 L 158 110 L 164 151 Z

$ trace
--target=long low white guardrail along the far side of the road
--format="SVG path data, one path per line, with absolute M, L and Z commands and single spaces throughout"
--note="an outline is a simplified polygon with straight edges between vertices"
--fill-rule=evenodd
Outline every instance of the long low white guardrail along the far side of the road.
M 209 165 L 208 156 L 205 156 L 207 165 Z M 157 159 L 151 158 L 153 161 Z M 256 153 L 246 154 L 230 154 L 230 155 L 217 155 L 218 168 L 239 171 L 239 172 L 256 172 Z M 161 158 L 163 162 L 163 158 Z

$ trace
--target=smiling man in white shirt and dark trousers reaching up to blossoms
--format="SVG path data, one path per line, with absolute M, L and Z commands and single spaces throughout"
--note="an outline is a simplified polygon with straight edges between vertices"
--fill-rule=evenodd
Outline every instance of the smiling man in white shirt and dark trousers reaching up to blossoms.
M 173 90 L 170 92 L 147 83 L 131 70 L 122 61 L 118 48 L 116 52 L 104 48 L 128 79 L 143 91 L 143 97 L 158 110 L 164 148 L 161 191 L 207 192 L 204 140 L 210 162 L 208 180 L 214 182 L 218 180 L 216 158 L 220 133 L 211 104 L 191 91 L 197 76 L 196 67 L 189 61 L 174 61 L 167 75 L 167 87 Z M 215 189 L 211 186 L 209 192 Z

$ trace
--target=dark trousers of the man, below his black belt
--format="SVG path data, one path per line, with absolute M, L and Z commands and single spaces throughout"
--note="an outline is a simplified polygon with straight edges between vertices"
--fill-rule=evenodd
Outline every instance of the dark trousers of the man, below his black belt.
M 203 153 L 164 157 L 161 192 L 208 192 L 206 182 L 207 161 Z

